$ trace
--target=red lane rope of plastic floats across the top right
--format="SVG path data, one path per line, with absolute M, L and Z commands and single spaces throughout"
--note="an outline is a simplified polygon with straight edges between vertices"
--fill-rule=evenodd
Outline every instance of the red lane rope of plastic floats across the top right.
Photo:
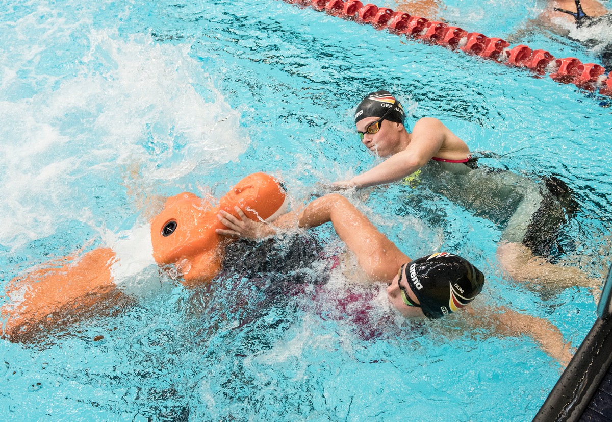
M 308 0 L 285 0 L 289 3 L 308 4 Z M 612 73 L 605 76 L 606 70 L 599 64 L 583 64 L 575 58 L 555 59 L 546 50 L 532 50 L 526 45 L 513 48 L 501 38 L 490 38 L 480 32 L 467 32 L 457 26 L 449 26 L 439 21 L 412 16 L 405 12 L 394 12 L 388 7 L 363 4 L 359 0 L 310 0 L 316 10 L 325 10 L 330 15 L 362 24 L 371 24 L 376 29 L 389 29 L 394 34 L 420 39 L 427 43 L 438 44 L 485 59 L 504 62 L 508 66 L 526 67 L 532 72 L 543 75 L 553 72 L 550 77 L 560 83 L 573 83 L 581 89 L 612 96 Z

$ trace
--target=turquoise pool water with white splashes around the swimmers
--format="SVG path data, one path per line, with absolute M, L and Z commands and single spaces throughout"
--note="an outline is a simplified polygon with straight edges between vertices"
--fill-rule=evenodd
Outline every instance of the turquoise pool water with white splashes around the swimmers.
M 483 29 L 487 10 L 460 26 L 503 36 Z M 483 163 L 563 179 L 580 210 L 562 259 L 591 276 L 610 263 L 612 109 L 574 86 L 274 0 L 9 1 L 0 13 L 3 286 L 143 224 L 183 190 L 218 197 L 267 171 L 308 200 L 314 183 L 375 164 L 351 115 L 381 88 L 401 92 L 414 119 L 504 154 Z M 501 21 L 511 32 L 518 17 Z M 410 193 L 352 199 L 408 255 L 468 257 L 487 276 L 482 303 L 547 318 L 580 344 L 591 293 L 515 285 L 495 257 L 499 227 Z M 435 212 L 443 225 L 427 222 Z M 318 236 L 340 248 L 329 228 Z M 239 274 L 198 292 L 143 276 L 156 288 L 116 315 L 33 345 L 0 341 L 3 420 L 531 420 L 559 375 L 531 339 L 462 333 L 461 315 L 405 321 L 382 286 L 341 271 L 272 298 Z M 338 305 L 349 294 L 362 317 Z

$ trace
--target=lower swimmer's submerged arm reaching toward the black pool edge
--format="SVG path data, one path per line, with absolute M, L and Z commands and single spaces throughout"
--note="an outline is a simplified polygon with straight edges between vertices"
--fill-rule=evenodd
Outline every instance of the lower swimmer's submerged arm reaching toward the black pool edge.
M 500 307 L 491 315 L 496 323 L 496 331 L 504 336 L 529 336 L 537 342 L 542 350 L 559 361 L 565 367 L 572 359 L 573 349 L 569 342 L 563 341 L 559 328 L 531 315 L 519 314 L 506 307 Z

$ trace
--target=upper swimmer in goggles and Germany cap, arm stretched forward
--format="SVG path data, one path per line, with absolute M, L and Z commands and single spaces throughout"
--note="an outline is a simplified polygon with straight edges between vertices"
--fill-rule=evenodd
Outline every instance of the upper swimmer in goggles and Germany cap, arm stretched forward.
M 594 285 L 576 268 L 539 258 L 551 254 L 556 232 L 565 219 L 553 194 L 559 196 L 559 192 L 567 190 L 562 181 L 549 178 L 541 183 L 510 171 L 478 168 L 465 141 L 438 119 L 419 119 L 412 132 L 406 129 L 405 120 L 403 107 L 390 92 L 368 94 L 357 105 L 357 134 L 372 153 L 388 158 L 330 187 L 361 189 L 402 179 L 411 184 L 418 179 L 431 191 L 505 226 L 499 260 L 515 280 L 537 279 L 561 287 Z

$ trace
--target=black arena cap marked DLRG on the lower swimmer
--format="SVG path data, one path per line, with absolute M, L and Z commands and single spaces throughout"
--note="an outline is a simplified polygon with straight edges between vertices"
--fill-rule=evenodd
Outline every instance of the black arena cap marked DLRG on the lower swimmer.
M 439 252 L 406 265 L 406 280 L 428 318 L 440 318 L 470 303 L 485 276 L 468 260 Z

